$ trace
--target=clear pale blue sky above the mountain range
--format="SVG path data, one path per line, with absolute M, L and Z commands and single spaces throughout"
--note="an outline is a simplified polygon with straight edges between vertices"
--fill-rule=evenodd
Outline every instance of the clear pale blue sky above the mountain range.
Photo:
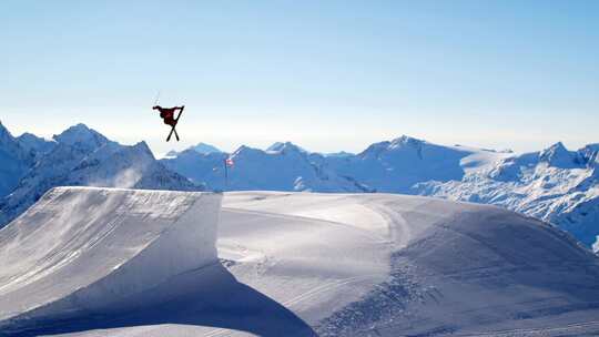
M 0 38 L 16 134 L 83 122 L 156 154 L 599 142 L 599 1 L 9 0 Z M 159 90 L 187 106 L 176 146 L 150 110 Z

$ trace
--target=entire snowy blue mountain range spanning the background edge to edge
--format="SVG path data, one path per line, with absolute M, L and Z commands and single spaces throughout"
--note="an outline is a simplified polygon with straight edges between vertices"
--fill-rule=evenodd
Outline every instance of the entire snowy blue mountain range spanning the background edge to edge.
M 83 124 L 52 140 L 14 137 L 0 126 L 0 224 L 59 185 L 379 192 L 498 205 L 551 222 L 598 251 L 598 153 L 599 144 L 516 154 L 400 136 L 358 154 L 313 153 L 290 142 L 224 153 L 201 143 L 156 160 L 144 142 L 120 145 Z M 234 166 L 225 182 L 227 157 Z

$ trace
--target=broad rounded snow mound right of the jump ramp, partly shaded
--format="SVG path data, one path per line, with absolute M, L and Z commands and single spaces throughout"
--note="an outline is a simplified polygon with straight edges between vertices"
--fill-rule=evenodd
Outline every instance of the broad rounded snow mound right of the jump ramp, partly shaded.
M 599 261 L 556 228 L 497 207 L 233 193 L 220 233 L 221 257 L 242 262 L 232 273 L 321 336 L 550 336 L 582 323 L 599 333 Z

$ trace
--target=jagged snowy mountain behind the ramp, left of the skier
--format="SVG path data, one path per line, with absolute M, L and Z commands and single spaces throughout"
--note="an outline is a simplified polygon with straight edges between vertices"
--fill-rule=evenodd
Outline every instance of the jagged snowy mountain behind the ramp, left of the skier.
M 31 136 L 27 136 L 33 140 Z M 54 186 L 106 186 L 148 190 L 200 191 L 158 162 L 144 142 L 121 145 L 83 124 L 53 136 L 50 150 L 39 140 L 29 142 L 34 164 L 0 201 L 0 226 L 27 210 Z M 18 144 L 18 143 L 17 143 Z M 43 152 L 48 151 L 48 152 Z

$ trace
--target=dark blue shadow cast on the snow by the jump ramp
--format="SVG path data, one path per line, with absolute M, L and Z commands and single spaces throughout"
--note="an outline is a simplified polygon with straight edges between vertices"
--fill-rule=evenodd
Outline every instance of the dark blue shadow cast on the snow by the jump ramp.
M 258 336 L 316 336 L 300 317 L 235 279 L 221 264 L 189 272 L 143 294 L 151 306 L 79 315 L 68 320 L 17 318 L 0 336 L 39 336 L 149 325 L 193 325 Z

